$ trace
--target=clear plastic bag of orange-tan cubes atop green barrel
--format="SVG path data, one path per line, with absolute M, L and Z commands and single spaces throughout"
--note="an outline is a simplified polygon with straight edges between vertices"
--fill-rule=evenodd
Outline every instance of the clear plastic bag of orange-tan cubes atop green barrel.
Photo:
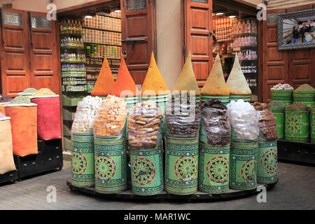
M 124 99 L 109 95 L 103 100 L 93 123 L 94 136 L 117 136 L 124 130 L 128 105 Z

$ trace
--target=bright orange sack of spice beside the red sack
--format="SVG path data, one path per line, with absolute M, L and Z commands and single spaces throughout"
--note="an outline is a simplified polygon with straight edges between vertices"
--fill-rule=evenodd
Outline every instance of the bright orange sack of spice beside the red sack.
M 37 154 L 37 104 L 6 104 L 4 109 L 11 118 L 13 154 Z

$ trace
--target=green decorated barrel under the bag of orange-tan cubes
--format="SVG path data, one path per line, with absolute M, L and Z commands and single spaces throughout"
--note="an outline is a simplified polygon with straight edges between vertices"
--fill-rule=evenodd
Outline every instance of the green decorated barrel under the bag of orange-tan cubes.
M 94 137 L 95 191 L 121 193 L 127 189 L 127 146 L 125 134 Z

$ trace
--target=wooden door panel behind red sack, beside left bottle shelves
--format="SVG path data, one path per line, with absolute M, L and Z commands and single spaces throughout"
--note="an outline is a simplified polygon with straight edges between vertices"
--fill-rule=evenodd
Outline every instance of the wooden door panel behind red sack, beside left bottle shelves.
M 49 88 L 59 94 L 57 68 L 56 21 L 49 21 L 45 13 L 29 12 L 29 58 L 31 87 Z

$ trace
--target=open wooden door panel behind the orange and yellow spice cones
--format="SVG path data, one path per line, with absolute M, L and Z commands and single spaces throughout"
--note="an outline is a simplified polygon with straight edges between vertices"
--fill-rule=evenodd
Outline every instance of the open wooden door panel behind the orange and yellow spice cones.
M 136 84 L 146 78 L 151 52 L 156 57 L 155 0 L 120 0 L 122 50 Z

